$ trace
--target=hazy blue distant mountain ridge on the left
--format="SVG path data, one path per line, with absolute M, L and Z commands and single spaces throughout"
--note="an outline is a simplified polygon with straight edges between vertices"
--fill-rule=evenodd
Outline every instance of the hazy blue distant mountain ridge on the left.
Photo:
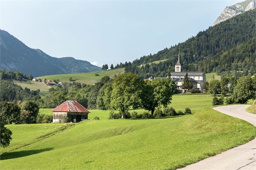
M 40 49 L 27 47 L 7 31 L 0 30 L 0 68 L 33 76 L 100 71 L 88 61 L 73 57 L 52 57 Z

